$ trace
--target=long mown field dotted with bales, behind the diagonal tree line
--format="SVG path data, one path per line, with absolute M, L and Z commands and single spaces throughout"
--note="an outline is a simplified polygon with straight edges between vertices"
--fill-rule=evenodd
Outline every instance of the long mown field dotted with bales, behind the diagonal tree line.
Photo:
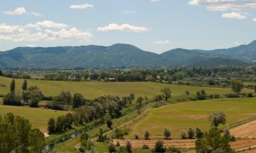
M 0 77 L 0 83 L 5 87 L 0 87 L 0 95 L 6 94 L 10 89 L 12 79 Z M 97 98 L 102 95 L 117 95 L 124 97 L 134 92 L 135 96 L 145 96 L 152 98 L 160 93 L 161 88 L 171 88 L 173 96 L 184 95 L 188 90 L 191 94 L 204 89 L 207 94 L 218 93 L 224 95 L 232 92 L 230 88 L 211 88 L 198 86 L 179 86 L 173 84 L 160 84 L 154 82 L 57 82 L 43 80 L 27 80 L 28 86 L 38 86 L 44 95 L 57 95 L 61 90 L 71 89 L 72 93 L 80 92 L 87 99 Z M 16 79 L 16 92 L 21 92 L 22 79 Z M 253 90 L 244 89 L 244 92 Z

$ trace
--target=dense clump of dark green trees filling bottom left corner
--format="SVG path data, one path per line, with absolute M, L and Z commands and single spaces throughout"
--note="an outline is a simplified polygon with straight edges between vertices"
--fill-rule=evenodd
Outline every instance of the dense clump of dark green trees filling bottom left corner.
M 29 120 L 12 113 L 0 116 L 1 153 L 38 153 L 44 150 L 44 134 L 39 129 L 31 129 Z

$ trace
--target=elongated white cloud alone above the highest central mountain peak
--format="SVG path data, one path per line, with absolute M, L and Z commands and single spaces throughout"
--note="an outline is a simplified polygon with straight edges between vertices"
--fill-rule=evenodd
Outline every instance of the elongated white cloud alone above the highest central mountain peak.
M 150 29 L 146 27 L 136 27 L 130 24 L 115 24 L 111 23 L 105 27 L 98 27 L 97 31 L 106 32 L 106 31 L 130 31 L 130 32 L 145 32 L 149 31 Z

